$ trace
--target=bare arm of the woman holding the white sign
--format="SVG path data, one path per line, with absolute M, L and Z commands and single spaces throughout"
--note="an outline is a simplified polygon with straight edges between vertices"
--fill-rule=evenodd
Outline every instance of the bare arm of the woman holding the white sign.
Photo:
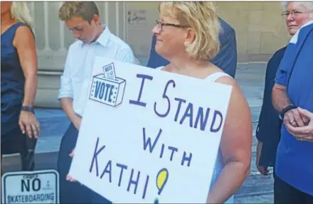
M 207 203 L 224 203 L 243 184 L 250 173 L 252 122 L 248 102 L 230 77 L 216 82 L 233 86 L 221 139 L 225 166 L 208 195 Z

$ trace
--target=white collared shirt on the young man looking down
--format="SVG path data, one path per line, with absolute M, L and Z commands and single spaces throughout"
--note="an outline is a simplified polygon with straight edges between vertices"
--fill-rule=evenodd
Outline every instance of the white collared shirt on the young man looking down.
M 76 41 L 70 45 L 64 72 L 60 79 L 58 100 L 63 97 L 73 98 L 74 112 L 80 116 L 83 116 L 87 102 L 87 92 L 96 55 L 124 63 L 136 63 L 129 45 L 113 35 L 107 26 L 94 43 L 85 44 L 82 41 Z

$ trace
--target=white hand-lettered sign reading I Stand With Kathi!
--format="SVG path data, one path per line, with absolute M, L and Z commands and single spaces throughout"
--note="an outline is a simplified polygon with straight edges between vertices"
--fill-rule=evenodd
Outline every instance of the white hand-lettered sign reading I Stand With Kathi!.
M 70 175 L 113 203 L 206 203 L 230 93 L 97 57 Z

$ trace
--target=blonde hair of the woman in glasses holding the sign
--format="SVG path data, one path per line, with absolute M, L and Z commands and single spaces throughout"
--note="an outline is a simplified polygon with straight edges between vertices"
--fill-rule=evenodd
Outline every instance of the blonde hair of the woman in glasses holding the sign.
M 161 16 L 176 18 L 182 25 L 190 26 L 196 33 L 194 41 L 185 46 L 191 58 L 210 60 L 218 54 L 220 50 L 218 34 L 221 25 L 212 2 L 162 2 L 159 11 Z

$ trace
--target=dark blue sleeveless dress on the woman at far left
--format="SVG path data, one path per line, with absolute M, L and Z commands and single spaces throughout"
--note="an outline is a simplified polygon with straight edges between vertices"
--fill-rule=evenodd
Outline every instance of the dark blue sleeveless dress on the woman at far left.
M 13 149 L 16 149 L 14 146 L 10 148 L 2 144 L 14 141 L 21 133 L 18 117 L 21 112 L 25 78 L 17 50 L 13 45 L 19 26 L 26 24 L 15 23 L 1 34 L 1 153 L 2 148 L 14 151 Z

